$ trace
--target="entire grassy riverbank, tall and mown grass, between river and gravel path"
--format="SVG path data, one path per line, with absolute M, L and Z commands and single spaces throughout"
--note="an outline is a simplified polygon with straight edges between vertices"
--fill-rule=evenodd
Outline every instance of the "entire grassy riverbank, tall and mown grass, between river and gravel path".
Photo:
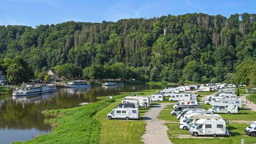
M 68 109 L 46 110 L 45 115 L 53 115 L 55 118 L 48 119 L 53 129 L 50 133 L 39 135 L 26 142 L 14 143 L 142 143 L 140 137 L 145 132 L 146 123 L 138 121 L 124 121 L 107 119 L 106 115 L 121 102 L 127 95 L 148 95 L 156 90 L 123 93 L 106 99 Z M 148 108 L 142 108 L 141 115 Z M 110 139 L 111 138 L 111 139 Z

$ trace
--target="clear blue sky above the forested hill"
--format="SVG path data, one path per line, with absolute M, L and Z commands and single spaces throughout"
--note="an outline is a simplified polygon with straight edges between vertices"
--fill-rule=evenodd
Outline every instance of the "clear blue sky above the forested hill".
M 38 26 L 65 21 L 102 22 L 185 13 L 256 13 L 256 1 L 195 0 L 1 0 L 0 25 Z

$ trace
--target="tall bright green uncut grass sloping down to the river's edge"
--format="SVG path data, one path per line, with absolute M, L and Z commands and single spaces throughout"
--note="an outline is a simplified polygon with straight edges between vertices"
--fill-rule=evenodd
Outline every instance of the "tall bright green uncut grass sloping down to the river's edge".
M 85 106 L 44 111 L 57 116 L 49 121 L 57 127 L 48 134 L 14 143 L 99 143 L 100 122 L 92 116 L 113 101 L 105 99 Z

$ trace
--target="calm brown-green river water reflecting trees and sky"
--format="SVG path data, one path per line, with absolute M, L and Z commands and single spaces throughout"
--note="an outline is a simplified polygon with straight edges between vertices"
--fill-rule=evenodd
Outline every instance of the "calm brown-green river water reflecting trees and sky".
M 76 107 L 82 102 L 97 101 L 96 97 L 117 95 L 121 92 L 158 89 L 161 87 L 143 85 L 93 86 L 90 88 L 60 88 L 54 93 L 33 97 L 13 99 L 0 97 L 0 144 L 13 141 L 26 141 L 39 134 L 51 131 L 44 124 L 41 111 L 49 109 Z

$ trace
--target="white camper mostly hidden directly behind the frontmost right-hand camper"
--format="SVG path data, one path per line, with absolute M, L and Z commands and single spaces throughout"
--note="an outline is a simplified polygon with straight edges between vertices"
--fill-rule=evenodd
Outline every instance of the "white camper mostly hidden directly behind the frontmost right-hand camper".
M 180 129 L 189 130 L 199 119 L 207 119 L 207 118 L 217 118 L 222 119 L 222 117 L 218 114 L 198 114 L 192 113 L 187 116 L 182 122 L 180 122 Z

